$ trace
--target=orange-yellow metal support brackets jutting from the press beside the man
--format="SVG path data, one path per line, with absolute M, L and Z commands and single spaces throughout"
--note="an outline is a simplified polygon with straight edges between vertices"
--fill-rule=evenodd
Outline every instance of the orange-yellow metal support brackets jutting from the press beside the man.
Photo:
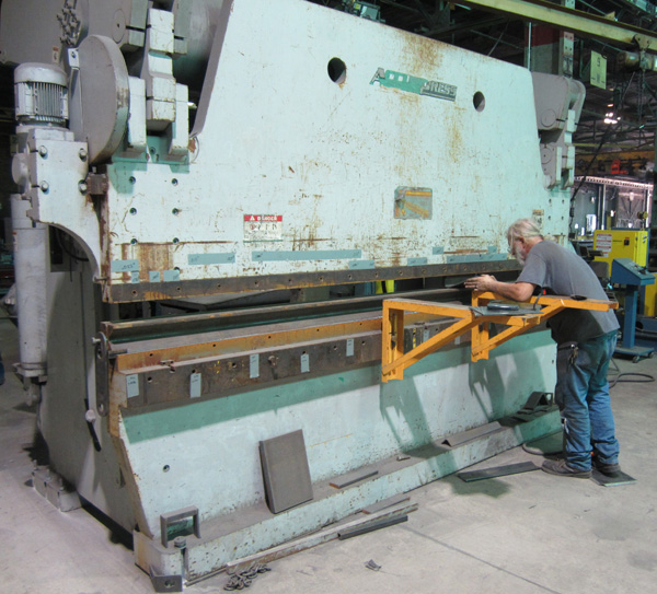
M 383 382 L 402 380 L 406 368 L 417 363 L 417 361 L 424 359 L 427 354 L 431 354 L 468 330 L 472 333 L 472 361 L 480 361 L 488 359 L 488 353 L 495 347 L 503 345 L 515 336 L 519 336 L 529 328 L 538 326 L 566 307 L 607 312 L 615 310 L 619 306 L 615 301 L 544 295 L 537 298 L 531 303 L 518 304 L 522 310 L 533 310 L 537 307 L 535 311 L 529 313 L 505 315 L 504 313 L 482 314 L 476 311 L 476 307 L 485 306 L 492 300 L 503 299 L 500 295 L 488 291 L 473 291 L 472 306 L 413 299 L 384 300 L 381 340 L 381 380 Z M 538 308 L 539 305 L 541 308 Z M 406 313 L 445 316 L 456 318 L 456 321 L 436 336 L 425 340 L 408 352 L 404 352 L 404 315 Z M 508 328 L 491 338 L 491 323 L 508 326 Z

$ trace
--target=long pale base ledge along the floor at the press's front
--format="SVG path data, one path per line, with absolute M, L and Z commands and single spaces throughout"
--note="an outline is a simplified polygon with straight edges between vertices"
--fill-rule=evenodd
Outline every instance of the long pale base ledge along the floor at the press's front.
M 522 422 L 505 418 L 502 427 L 476 439 L 449 446 L 437 440 L 376 465 L 377 474 L 344 489 L 331 480 L 313 485 L 314 499 L 285 512 L 273 514 L 263 502 L 242 509 L 217 522 L 201 525 L 200 538 L 189 536 L 183 548 L 164 548 L 160 540 L 134 533 L 136 563 L 151 575 L 182 575 L 187 584 L 240 563 L 241 558 L 267 551 L 360 513 L 364 508 L 416 489 L 457 470 L 487 459 L 525 442 L 558 430 L 556 409 Z M 320 544 L 306 539 L 306 546 L 286 548 L 289 555 Z M 284 555 L 278 555 L 281 557 Z

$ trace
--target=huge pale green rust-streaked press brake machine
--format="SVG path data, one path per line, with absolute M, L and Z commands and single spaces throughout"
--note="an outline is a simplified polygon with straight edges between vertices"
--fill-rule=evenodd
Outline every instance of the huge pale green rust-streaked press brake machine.
M 4 0 L 0 26 L 16 371 L 53 473 L 160 587 L 557 428 L 446 445 L 553 389 L 549 334 L 382 384 L 381 298 L 354 288 L 469 299 L 450 284 L 518 270 L 517 218 L 565 242 L 580 83 L 303 0 Z M 180 303 L 206 308 L 158 315 Z M 312 498 L 273 513 L 258 446 L 298 431 Z

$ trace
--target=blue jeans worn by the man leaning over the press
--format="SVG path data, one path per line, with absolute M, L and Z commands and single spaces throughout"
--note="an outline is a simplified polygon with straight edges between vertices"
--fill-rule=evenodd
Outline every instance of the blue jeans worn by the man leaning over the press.
M 603 464 L 616 464 L 607 370 L 615 349 L 615 331 L 556 351 L 554 397 L 564 423 L 564 457 L 579 470 L 591 467 L 591 450 Z

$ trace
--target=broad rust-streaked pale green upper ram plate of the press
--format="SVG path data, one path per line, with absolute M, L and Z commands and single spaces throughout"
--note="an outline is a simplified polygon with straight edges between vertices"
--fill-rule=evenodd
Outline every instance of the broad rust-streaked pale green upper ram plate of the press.
M 181 268 L 175 288 L 127 289 L 135 296 L 313 287 L 336 278 L 324 272 L 344 271 L 345 282 L 365 281 L 388 267 L 405 277 L 413 273 L 410 261 L 426 260 L 428 270 L 446 263 L 448 255 L 434 253 L 434 246 L 445 246 L 449 256 L 485 254 L 488 245 L 500 245 L 517 212 L 543 208 L 548 194 L 526 70 L 383 25 L 366 42 L 364 27 L 372 23 L 344 15 L 336 37 L 328 26 L 332 14 L 300 30 L 298 22 L 273 24 L 269 9 L 241 10 L 231 18 L 208 86 L 203 130 L 189 140 L 193 162 L 108 166 L 118 174 L 110 175 L 106 258 L 138 258 L 145 275 Z M 249 20 L 241 21 L 246 13 Z M 237 33 L 242 26 L 257 34 L 257 44 L 244 44 Z M 312 73 L 299 96 L 290 95 L 297 79 L 281 74 L 287 70 L 278 58 L 291 37 L 299 69 Z M 326 71 L 333 57 L 347 66 L 339 85 Z M 377 68 L 443 82 L 458 92 L 454 101 L 440 101 L 376 86 L 369 83 Z M 269 81 L 268 92 L 254 94 L 262 80 Z M 480 112 L 473 105 L 476 92 L 486 97 Z M 149 138 L 151 145 L 165 154 L 164 143 Z M 180 182 L 175 187 L 172 177 Z M 433 217 L 428 208 L 413 205 L 417 219 L 395 219 L 397 187 L 431 188 Z M 560 214 L 567 216 L 567 200 L 555 202 L 548 230 L 553 234 L 562 231 Z M 135 217 L 126 216 L 127 205 Z M 240 221 L 249 212 L 283 217 L 275 247 L 245 245 Z M 172 247 L 174 237 L 178 242 Z M 186 266 L 191 255 L 221 253 L 219 246 L 229 244 L 234 263 Z M 365 270 L 330 260 L 254 263 L 254 249 L 360 249 L 361 259 L 376 268 L 366 277 Z M 131 280 L 114 275 L 108 282 Z M 143 275 L 140 280 L 147 282 Z

